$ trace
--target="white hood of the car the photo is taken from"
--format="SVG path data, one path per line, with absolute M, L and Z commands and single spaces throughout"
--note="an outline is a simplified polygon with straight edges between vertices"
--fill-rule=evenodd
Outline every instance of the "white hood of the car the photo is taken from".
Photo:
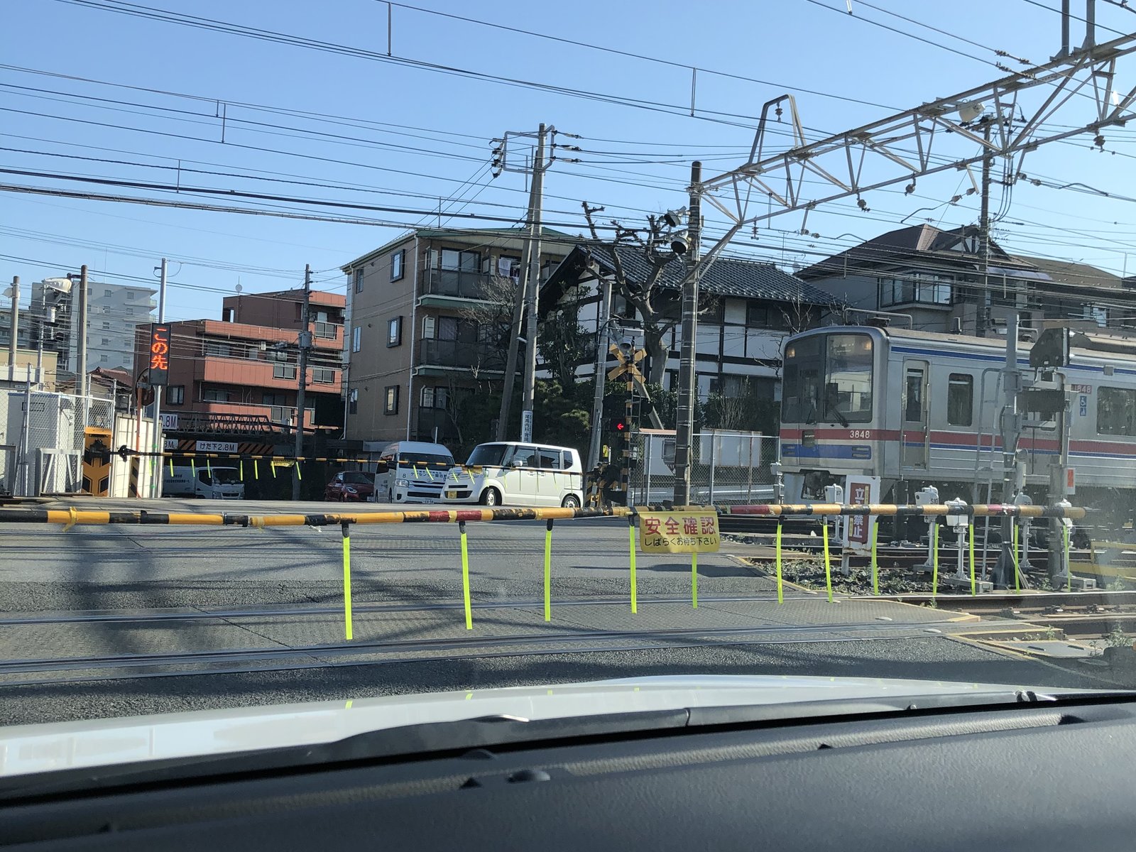
M 791 676 L 676 676 L 389 695 L 0 728 L 0 777 L 334 742 L 403 725 L 494 713 L 525 719 L 684 707 L 1004 693 L 1013 686 Z M 1049 694 L 1068 692 L 1044 690 Z

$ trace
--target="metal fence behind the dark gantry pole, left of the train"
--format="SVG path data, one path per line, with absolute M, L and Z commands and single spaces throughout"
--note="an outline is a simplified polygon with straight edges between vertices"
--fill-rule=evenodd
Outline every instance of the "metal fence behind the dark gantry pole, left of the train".
M 629 488 L 636 506 L 658 504 L 675 492 L 675 436 L 638 435 L 638 462 Z M 770 465 L 780 441 L 751 432 L 695 433 L 691 448 L 691 500 L 696 503 L 745 506 L 771 501 L 776 494 Z

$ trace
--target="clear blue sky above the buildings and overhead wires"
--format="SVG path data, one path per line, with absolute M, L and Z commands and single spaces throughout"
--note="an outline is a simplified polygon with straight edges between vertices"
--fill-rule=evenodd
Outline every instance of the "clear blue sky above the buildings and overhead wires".
M 219 318 L 237 286 L 300 286 L 306 264 L 318 289 L 345 292 L 340 267 L 409 227 L 521 224 L 526 175 L 492 177 L 491 141 L 541 123 L 582 149 L 560 151 L 545 175 L 545 223 L 583 233 L 586 201 L 604 207 L 603 225 L 641 226 L 686 203 L 692 160 L 704 179 L 741 166 L 767 101 L 793 94 L 809 141 L 854 128 L 997 80 L 996 62 L 1047 61 L 1060 45 L 1059 6 L 10 0 L 0 184 L 257 215 L 0 191 L 0 281 L 86 264 L 94 281 L 156 285 L 166 257 L 167 319 Z M 1136 33 L 1130 9 L 1097 7 L 1097 42 Z M 1083 15 L 1084 0 L 1072 9 Z M 156 19 L 170 16 L 182 23 Z M 1075 20 L 1074 44 L 1084 37 Z M 1117 64 L 1118 89 L 1134 85 L 1136 55 Z M 1093 115 L 1077 95 L 1052 126 Z M 788 127 L 783 116 L 767 145 L 786 148 Z M 1103 135 L 1103 150 L 1091 136 L 1038 148 L 1009 169 L 1029 176 L 1012 186 L 995 164 L 1000 245 L 1136 273 L 1136 125 Z M 958 145 L 939 150 L 967 150 Z M 524 139 L 510 154 L 524 166 Z M 793 270 L 904 219 L 974 224 L 970 185 L 951 169 L 909 194 L 902 183 L 867 192 L 867 210 L 847 199 L 807 219 L 788 212 L 724 251 Z M 813 183 L 803 193 L 822 191 Z M 703 212 L 705 250 L 726 219 Z

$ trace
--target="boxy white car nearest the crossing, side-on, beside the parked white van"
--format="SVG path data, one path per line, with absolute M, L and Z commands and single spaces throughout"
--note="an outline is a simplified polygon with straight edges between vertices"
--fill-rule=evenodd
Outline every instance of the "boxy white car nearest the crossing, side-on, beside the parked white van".
M 584 504 L 584 468 L 570 446 L 501 442 L 478 444 L 454 468 L 445 500 L 483 506 Z

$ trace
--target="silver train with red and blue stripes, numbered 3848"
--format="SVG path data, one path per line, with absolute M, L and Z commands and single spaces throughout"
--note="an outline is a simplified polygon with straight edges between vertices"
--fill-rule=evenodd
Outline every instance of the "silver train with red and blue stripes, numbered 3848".
M 1071 392 L 1069 466 L 1077 504 L 1111 523 L 1136 507 L 1136 342 L 1077 334 L 1064 376 Z M 1077 348 L 1077 342 L 1087 348 Z M 1030 343 L 1019 344 L 1022 374 Z M 913 502 L 935 485 L 944 500 L 1000 502 L 1002 337 L 832 326 L 785 341 L 782 473 L 787 502 L 822 500 L 849 476 L 880 479 L 883 502 Z M 1028 416 L 1027 416 L 1028 417 Z M 1054 420 L 1033 418 L 1018 446 L 1025 490 L 1047 496 L 1060 450 Z M 847 493 L 847 491 L 845 491 Z

